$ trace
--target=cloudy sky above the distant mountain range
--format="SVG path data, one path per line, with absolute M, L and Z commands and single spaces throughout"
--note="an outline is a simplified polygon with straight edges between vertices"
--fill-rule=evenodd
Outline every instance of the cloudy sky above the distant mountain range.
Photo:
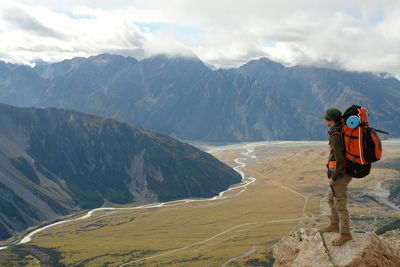
M 0 60 L 167 53 L 215 67 L 268 57 L 400 77 L 400 1 L 1 0 Z

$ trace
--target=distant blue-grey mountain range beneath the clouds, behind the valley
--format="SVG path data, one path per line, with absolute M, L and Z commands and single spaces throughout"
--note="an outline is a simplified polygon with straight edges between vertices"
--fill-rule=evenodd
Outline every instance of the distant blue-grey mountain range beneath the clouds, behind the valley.
M 211 70 L 198 58 L 101 54 L 34 68 L 0 63 L 0 102 L 72 108 L 181 140 L 325 140 L 327 107 L 366 106 L 400 136 L 400 81 L 387 74 L 285 67 L 266 58 Z

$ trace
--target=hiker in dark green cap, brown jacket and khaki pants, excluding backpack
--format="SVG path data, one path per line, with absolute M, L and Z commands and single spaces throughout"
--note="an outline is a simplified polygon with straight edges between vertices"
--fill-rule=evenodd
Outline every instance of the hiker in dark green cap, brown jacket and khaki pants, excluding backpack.
M 340 246 L 352 239 L 349 225 L 349 212 L 347 211 L 347 185 L 352 177 L 346 174 L 344 167 L 344 146 L 341 135 L 342 112 L 336 108 L 329 108 L 325 115 L 326 125 L 330 127 L 329 134 L 329 162 L 328 177 L 330 187 L 327 192 L 328 204 L 331 210 L 330 225 L 322 228 L 320 232 L 339 232 L 340 237 L 332 241 L 332 245 Z

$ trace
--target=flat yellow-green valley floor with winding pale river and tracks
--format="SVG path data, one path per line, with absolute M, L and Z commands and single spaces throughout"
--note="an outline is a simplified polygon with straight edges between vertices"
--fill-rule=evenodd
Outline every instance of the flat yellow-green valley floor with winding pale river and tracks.
M 0 265 L 269 266 L 272 245 L 289 230 L 328 223 L 327 142 L 195 145 L 242 171 L 244 182 L 213 199 L 98 210 L 0 251 Z M 382 162 L 398 161 L 399 146 L 384 143 Z M 374 231 L 400 216 L 385 190 L 399 170 L 379 166 L 349 184 L 353 231 Z

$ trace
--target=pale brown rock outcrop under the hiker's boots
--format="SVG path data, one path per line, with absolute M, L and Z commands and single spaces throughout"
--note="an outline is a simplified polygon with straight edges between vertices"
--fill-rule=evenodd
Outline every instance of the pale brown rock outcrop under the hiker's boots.
M 380 236 L 352 232 L 352 240 L 332 246 L 338 235 L 321 234 L 316 228 L 292 230 L 273 246 L 273 266 L 400 266 L 400 230 Z

